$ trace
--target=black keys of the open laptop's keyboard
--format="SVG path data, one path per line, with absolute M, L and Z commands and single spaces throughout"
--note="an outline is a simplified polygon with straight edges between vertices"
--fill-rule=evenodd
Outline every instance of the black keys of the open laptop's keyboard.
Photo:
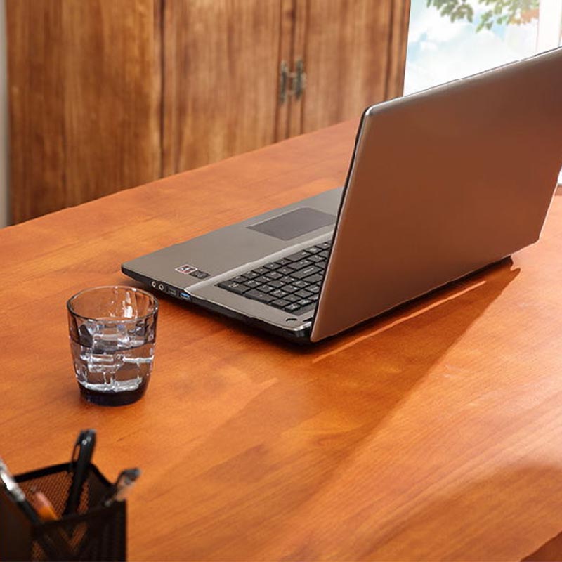
M 306 313 L 318 301 L 330 247 L 332 242 L 315 244 L 216 286 L 285 312 Z

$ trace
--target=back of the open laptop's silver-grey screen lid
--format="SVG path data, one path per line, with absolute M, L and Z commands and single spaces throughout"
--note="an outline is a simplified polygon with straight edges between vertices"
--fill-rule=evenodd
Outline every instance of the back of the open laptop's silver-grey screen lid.
M 370 107 L 312 341 L 535 242 L 562 166 L 562 49 Z

